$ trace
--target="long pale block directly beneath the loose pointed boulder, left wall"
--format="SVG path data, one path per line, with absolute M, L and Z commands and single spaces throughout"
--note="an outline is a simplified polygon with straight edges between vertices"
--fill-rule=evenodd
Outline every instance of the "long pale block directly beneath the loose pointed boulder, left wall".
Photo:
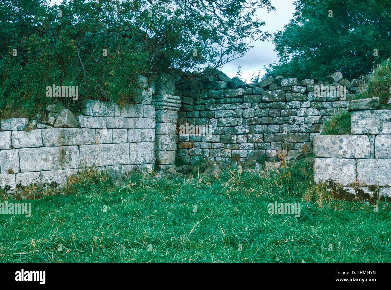
M 95 129 L 54 128 L 42 130 L 42 140 L 46 147 L 87 145 L 96 143 Z

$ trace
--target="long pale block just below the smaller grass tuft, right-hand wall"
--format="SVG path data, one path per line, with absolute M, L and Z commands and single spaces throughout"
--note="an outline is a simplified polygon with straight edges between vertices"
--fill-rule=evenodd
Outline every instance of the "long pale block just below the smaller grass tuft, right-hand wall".
M 315 157 L 370 158 L 367 135 L 322 135 L 314 137 Z

